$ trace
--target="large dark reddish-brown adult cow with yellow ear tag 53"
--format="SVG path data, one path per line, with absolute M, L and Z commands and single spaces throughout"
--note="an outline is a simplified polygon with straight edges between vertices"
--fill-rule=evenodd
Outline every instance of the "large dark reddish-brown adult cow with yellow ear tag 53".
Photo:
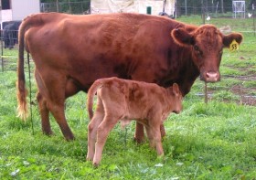
M 52 133 L 50 111 L 65 138 L 72 140 L 64 102 L 80 90 L 89 90 L 96 79 L 135 79 L 163 87 L 176 82 L 185 96 L 199 75 L 207 82 L 220 79 L 222 48 L 229 47 L 233 39 L 240 43 L 242 36 L 226 36 L 212 25 L 191 26 L 163 16 L 27 16 L 19 28 L 19 115 L 27 117 L 24 48 L 36 66 L 43 132 Z M 143 126 L 137 125 L 138 142 L 143 140 L 143 132 Z

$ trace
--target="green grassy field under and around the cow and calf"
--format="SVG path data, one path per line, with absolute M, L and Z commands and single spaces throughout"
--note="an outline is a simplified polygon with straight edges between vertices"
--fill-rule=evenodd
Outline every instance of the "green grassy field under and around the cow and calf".
M 178 20 L 201 23 L 198 16 Z M 183 102 L 184 111 L 165 122 L 164 159 L 157 159 L 148 143 L 133 143 L 134 123 L 124 131 L 118 125 L 98 168 L 85 160 L 86 94 L 69 98 L 66 105 L 75 141 L 64 140 L 52 117 L 55 134 L 43 135 L 37 104 L 32 106 L 32 122 L 16 118 L 17 51 L 5 50 L 5 71 L 0 72 L 0 179 L 255 179 L 256 37 L 245 32 L 252 19 L 221 18 L 210 23 L 243 32 L 244 41 L 239 51 L 224 51 L 222 79 L 208 84 L 208 104 L 205 84 L 197 80 Z M 32 79 L 35 103 L 36 90 Z

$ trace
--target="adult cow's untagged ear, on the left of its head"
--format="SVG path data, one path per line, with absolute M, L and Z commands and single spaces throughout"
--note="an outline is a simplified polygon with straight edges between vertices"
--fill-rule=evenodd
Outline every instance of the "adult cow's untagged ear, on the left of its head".
M 180 46 L 192 45 L 194 40 L 193 36 L 185 28 L 176 28 L 171 31 L 171 37 L 175 40 L 176 44 Z

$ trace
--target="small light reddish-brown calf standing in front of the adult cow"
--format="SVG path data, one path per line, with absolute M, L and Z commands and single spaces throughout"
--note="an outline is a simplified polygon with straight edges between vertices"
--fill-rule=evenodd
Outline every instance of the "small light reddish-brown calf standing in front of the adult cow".
M 97 108 L 93 116 L 96 92 Z M 98 165 L 107 136 L 120 120 L 125 125 L 133 119 L 144 124 L 150 146 L 156 148 L 157 155 L 164 155 L 160 125 L 170 112 L 179 113 L 182 110 L 182 94 L 176 83 L 165 89 L 155 83 L 135 80 L 98 79 L 88 91 L 87 108 L 91 118 L 87 160 L 93 160 L 93 164 Z

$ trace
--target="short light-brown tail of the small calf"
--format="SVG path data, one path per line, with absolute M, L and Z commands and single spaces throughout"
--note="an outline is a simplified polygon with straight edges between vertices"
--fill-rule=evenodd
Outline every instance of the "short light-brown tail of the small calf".
M 95 80 L 95 82 L 91 85 L 91 88 L 88 90 L 87 93 L 87 111 L 89 113 L 90 120 L 93 117 L 93 98 L 97 90 L 102 86 L 102 83 L 102 79 Z

